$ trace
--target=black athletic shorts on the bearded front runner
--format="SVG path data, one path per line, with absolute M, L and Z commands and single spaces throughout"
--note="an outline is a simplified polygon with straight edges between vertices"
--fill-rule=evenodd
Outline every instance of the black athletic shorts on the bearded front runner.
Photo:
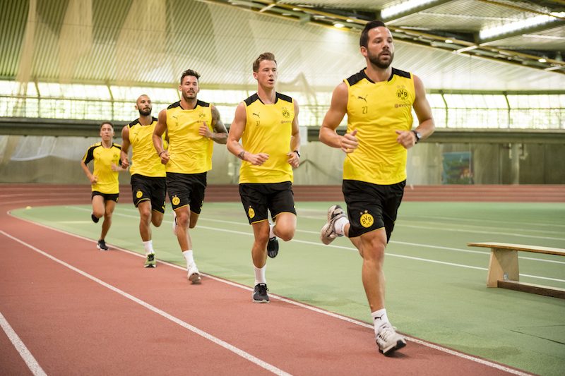
M 406 181 L 381 186 L 364 181 L 344 180 L 342 188 L 350 222 L 350 238 L 384 228 L 388 242 L 405 185 Z

